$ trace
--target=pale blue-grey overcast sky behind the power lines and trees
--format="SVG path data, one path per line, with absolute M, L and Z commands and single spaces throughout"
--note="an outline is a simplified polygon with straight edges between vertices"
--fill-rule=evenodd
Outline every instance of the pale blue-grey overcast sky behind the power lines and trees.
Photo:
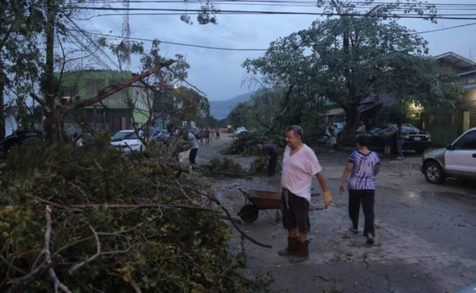
M 431 0 L 430 3 L 443 4 L 448 0 Z M 461 1 L 474 3 L 475 1 Z M 459 3 L 459 2 L 458 2 Z M 121 7 L 120 4 L 115 7 Z M 131 3 L 131 8 L 184 8 L 183 4 L 163 3 Z M 279 6 L 238 6 L 218 5 L 227 10 L 266 10 L 321 12 L 317 7 L 279 7 Z M 190 9 L 196 7 L 189 5 Z M 476 8 L 476 7 L 475 7 Z M 439 13 L 472 13 L 473 11 L 440 11 Z M 110 12 L 95 12 L 110 13 Z M 119 12 L 121 13 L 121 12 Z M 476 13 L 476 11 L 474 11 Z M 93 15 L 91 13 L 90 15 Z M 192 16 L 193 17 L 193 16 Z M 188 25 L 180 20 L 180 16 L 129 16 L 131 36 L 164 41 L 191 43 L 207 46 L 234 48 L 267 48 L 269 43 L 278 37 L 291 32 L 308 28 L 318 16 L 303 15 L 218 15 L 218 24 Z M 476 20 L 439 20 L 432 24 L 422 19 L 402 19 L 400 24 L 417 31 L 445 28 Z M 120 35 L 122 17 L 100 16 L 88 21 L 78 21 L 85 30 Z M 476 57 L 476 25 L 451 30 L 423 34 L 429 41 L 430 55 L 436 56 L 452 51 L 468 59 Z M 150 43 L 145 43 L 146 47 Z M 250 91 L 249 84 L 244 82 L 247 75 L 241 67 L 246 58 L 257 58 L 263 52 L 219 51 L 204 48 L 161 44 L 162 54 L 173 57 L 180 53 L 186 56 L 191 68 L 188 81 L 205 92 L 209 100 L 226 100 L 238 94 Z M 472 52 L 472 57 L 470 56 Z M 138 61 L 133 60 L 132 70 L 138 71 Z

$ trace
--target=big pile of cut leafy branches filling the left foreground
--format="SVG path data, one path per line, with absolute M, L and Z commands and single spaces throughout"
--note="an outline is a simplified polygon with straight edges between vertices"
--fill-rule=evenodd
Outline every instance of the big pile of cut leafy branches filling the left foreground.
M 203 205 L 224 209 L 214 197 L 163 160 L 107 145 L 30 145 L 0 160 L 0 291 L 268 291 L 270 276 L 250 279 L 230 253 L 222 210 Z

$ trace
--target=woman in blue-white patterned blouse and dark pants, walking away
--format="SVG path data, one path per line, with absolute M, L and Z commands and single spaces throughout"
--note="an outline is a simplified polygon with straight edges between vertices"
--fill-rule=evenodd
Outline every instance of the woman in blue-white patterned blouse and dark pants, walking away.
M 344 191 L 344 183 L 347 180 L 349 189 L 349 217 L 352 220 L 351 231 L 358 233 L 359 211 L 362 203 L 364 211 L 364 236 L 367 236 L 367 243 L 372 244 L 375 237 L 374 213 L 375 203 L 375 175 L 380 171 L 380 159 L 377 153 L 368 149 L 366 137 L 357 138 L 357 151 L 349 157 L 347 167 L 345 167 L 340 179 L 339 191 Z

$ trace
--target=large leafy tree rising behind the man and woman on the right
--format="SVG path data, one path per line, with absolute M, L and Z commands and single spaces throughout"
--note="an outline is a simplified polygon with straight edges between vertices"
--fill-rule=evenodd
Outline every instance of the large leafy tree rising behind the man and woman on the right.
M 272 42 L 264 57 L 244 65 L 285 82 L 294 72 L 304 72 L 309 87 L 317 87 L 321 96 L 345 111 L 348 137 L 355 133 L 359 104 L 373 93 L 423 106 L 453 103 L 461 95 L 457 77 L 441 71 L 427 56 L 427 42 L 420 35 L 387 20 L 399 5 L 376 5 L 357 17 L 351 2 L 331 1 L 326 10 L 335 10 L 338 17 L 315 21 L 309 29 Z M 435 16 L 431 6 L 403 6 L 418 14 L 430 10 L 430 19 Z

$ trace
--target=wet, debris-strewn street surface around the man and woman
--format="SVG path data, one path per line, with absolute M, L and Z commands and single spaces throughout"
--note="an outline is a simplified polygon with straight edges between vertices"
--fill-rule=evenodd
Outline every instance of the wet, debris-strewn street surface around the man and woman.
M 222 157 L 232 141 L 201 145 L 198 163 Z M 273 249 L 246 241 L 251 273 L 271 271 L 273 288 L 288 292 L 455 292 L 476 282 L 476 185 L 448 180 L 432 185 L 419 171 L 420 156 L 406 154 L 402 161 L 382 160 L 377 176 L 376 243 L 349 232 L 348 195 L 338 193 L 349 151 L 316 152 L 333 194 L 324 210 L 320 196 L 311 202 L 310 259 L 290 264 L 277 251 L 285 247 L 286 231 L 275 221 L 275 211 L 260 211 L 253 223 L 242 228 Z M 248 168 L 254 157 L 228 156 Z M 244 205 L 235 188 L 280 191 L 280 177 L 204 178 L 224 205 L 236 215 Z M 313 193 L 320 192 L 313 182 Z M 363 215 L 361 213 L 360 230 Z M 241 250 L 239 237 L 232 250 Z

